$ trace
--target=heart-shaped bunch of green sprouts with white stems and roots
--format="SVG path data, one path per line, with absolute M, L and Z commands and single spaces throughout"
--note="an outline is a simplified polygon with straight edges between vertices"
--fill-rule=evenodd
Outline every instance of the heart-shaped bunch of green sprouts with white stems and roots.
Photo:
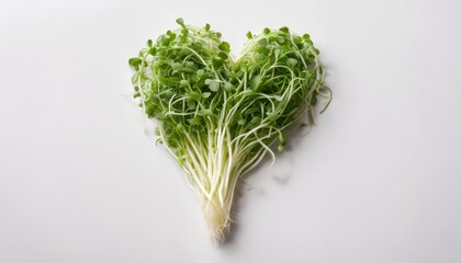
M 130 59 L 135 98 L 158 121 L 158 141 L 188 174 L 216 241 L 224 239 L 237 180 L 272 142 L 283 151 L 286 129 L 313 113 L 324 85 L 318 49 L 288 27 L 248 32 L 233 60 L 221 33 L 184 25 L 148 41 Z M 329 95 L 328 95 L 329 96 Z

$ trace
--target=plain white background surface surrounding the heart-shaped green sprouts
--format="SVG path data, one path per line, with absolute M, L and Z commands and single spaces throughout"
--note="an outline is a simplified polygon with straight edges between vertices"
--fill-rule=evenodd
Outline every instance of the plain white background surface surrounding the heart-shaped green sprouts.
M 0 2 L 0 262 L 460 262 L 459 1 Z M 127 59 L 182 16 L 290 26 L 330 107 L 248 178 L 221 248 L 146 135 Z

